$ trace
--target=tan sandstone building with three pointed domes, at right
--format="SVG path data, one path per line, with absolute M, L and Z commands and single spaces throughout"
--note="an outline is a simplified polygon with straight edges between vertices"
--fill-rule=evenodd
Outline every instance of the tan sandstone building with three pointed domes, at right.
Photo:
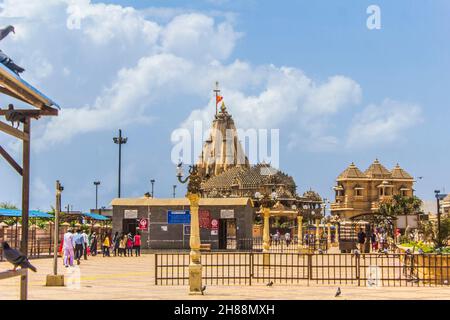
M 352 163 L 336 179 L 331 213 L 338 214 L 341 219 L 370 216 L 377 212 L 382 201 L 393 195 L 413 196 L 414 182 L 414 178 L 398 164 L 388 170 L 377 159 L 362 172 Z

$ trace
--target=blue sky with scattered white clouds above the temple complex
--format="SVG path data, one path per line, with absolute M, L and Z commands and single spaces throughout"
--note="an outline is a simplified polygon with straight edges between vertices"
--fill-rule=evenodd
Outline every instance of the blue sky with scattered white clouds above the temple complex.
M 216 81 L 238 128 L 279 129 L 279 167 L 299 194 L 332 199 L 340 172 L 376 158 L 423 177 L 423 199 L 450 192 L 449 11 L 446 0 L 0 1 L 0 25 L 16 27 L 0 49 L 62 107 L 32 124 L 31 208 L 54 205 L 56 180 L 63 207 L 93 208 L 96 180 L 109 206 L 119 128 L 122 196 L 155 179 L 155 197 L 171 197 L 172 133 L 209 127 Z M 17 141 L 0 145 L 19 161 Z M 0 202 L 20 207 L 6 161 L 0 179 Z

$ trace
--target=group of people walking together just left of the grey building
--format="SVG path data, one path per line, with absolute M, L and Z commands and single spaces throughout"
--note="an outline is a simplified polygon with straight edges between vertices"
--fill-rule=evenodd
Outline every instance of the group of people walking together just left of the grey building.
M 101 239 L 103 257 L 110 256 L 110 250 L 114 251 L 114 256 L 133 256 L 133 250 L 136 257 L 141 255 L 141 235 L 137 232 L 134 236 L 131 233 L 116 232 L 111 238 L 110 234 L 106 234 Z M 59 248 L 59 252 L 63 255 L 64 266 L 73 267 L 74 262 L 77 265 L 81 263 L 81 258 L 87 260 L 89 255 L 97 255 L 98 236 L 95 232 L 90 235 L 84 230 L 73 229 L 67 230 L 64 234 Z

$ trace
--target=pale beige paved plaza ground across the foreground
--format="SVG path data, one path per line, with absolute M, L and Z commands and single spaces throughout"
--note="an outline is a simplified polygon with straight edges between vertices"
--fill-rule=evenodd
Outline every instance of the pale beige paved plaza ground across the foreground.
M 59 259 L 61 263 L 61 259 Z M 30 272 L 29 299 L 99 300 L 99 299 L 445 299 L 450 300 L 450 287 L 347 287 L 341 286 L 342 297 L 334 298 L 337 285 L 331 286 L 210 286 L 204 296 L 189 296 L 187 286 L 155 286 L 154 256 L 89 257 L 78 268 L 81 281 L 66 287 L 45 287 L 45 277 L 52 271 L 52 259 L 32 260 L 38 272 Z M 61 263 L 62 264 L 62 263 Z M 10 269 L 0 262 L 0 272 Z M 60 272 L 68 273 L 62 265 Z M 77 279 L 77 277 L 74 277 Z M 66 282 L 69 276 L 66 277 Z M 19 278 L 0 280 L 0 299 L 18 299 Z

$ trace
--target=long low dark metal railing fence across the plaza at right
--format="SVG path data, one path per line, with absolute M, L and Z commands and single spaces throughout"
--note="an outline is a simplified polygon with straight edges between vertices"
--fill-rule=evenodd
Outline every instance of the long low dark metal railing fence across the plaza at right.
M 447 286 L 450 255 L 203 253 L 205 285 Z M 188 285 L 189 254 L 155 254 L 156 285 Z

